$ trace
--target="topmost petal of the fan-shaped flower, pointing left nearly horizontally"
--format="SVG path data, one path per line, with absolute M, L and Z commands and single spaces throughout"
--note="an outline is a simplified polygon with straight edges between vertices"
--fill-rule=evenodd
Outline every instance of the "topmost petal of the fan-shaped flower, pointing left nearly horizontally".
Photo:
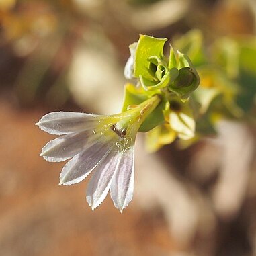
M 52 112 L 43 116 L 36 125 L 50 134 L 69 134 L 93 130 L 102 116 L 80 112 Z

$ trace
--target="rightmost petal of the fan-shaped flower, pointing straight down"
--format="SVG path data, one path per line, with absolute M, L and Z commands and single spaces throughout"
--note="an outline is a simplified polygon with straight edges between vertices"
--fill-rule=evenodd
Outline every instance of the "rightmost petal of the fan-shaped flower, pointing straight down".
M 121 212 L 130 203 L 134 191 L 134 146 L 127 148 L 118 163 L 110 187 L 110 195 L 116 208 Z

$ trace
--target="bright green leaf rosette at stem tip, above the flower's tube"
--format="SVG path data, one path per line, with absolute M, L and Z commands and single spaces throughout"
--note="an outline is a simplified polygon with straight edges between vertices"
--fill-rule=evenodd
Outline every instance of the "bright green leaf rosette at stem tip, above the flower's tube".
M 135 52 L 134 77 L 145 91 L 168 87 L 169 91 L 187 99 L 199 85 L 199 77 L 185 54 L 171 49 L 169 60 L 163 56 L 167 38 L 140 35 Z M 187 80 L 188 79 L 188 80 Z

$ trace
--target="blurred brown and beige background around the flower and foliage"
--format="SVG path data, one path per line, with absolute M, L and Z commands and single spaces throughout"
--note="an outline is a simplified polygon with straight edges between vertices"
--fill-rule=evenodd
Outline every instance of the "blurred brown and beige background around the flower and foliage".
M 0 22 L 0 255 L 256 255 L 255 0 L 0 0 Z M 123 214 L 109 197 L 92 212 L 87 181 L 59 187 L 63 163 L 39 157 L 53 136 L 34 123 L 119 112 L 129 44 L 192 29 L 206 49 L 251 45 L 249 118 L 222 120 L 183 150 L 147 153 L 139 134 L 134 200 Z

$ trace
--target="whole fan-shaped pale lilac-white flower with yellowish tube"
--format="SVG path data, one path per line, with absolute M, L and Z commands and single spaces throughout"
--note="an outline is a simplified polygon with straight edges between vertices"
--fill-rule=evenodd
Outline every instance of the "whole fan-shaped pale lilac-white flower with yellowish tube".
M 154 99 L 155 98 L 155 99 Z M 91 171 L 87 202 L 99 206 L 110 190 L 121 212 L 134 191 L 134 142 L 144 118 L 159 103 L 154 96 L 121 114 L 98 116 L 75 112 L 52 112 L 37 123 L 50 134 L 61 135 L 48 142 L 42 153 L 50 162 L 69 160 L 60 174 L 60 185 L 79 183 Z

